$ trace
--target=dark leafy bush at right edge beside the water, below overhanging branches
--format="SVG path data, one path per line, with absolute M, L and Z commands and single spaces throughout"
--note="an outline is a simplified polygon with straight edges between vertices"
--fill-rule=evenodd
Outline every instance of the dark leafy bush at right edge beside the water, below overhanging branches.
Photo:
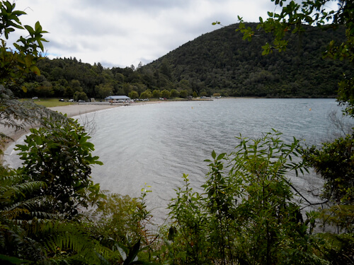
M 353 143 L 352 134 L 304 150 L 304 160 L 326 180 L 321 196 L 329 204 L 320 217 L 324 224 L 345 232 L 354 230 Z

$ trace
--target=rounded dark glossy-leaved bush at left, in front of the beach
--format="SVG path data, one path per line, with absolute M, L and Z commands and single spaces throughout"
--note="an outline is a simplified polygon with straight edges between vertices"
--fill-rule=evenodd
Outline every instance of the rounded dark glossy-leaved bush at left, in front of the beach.
M 79 206 L 87 207 L 98 197 L 99 187 L 91 181 L 91 165 L 102 165 L 92 156 L 90 136 L 74 119 L 43 119 L 39 129 L 30 129 L 24 145 L 17 145 L 30 181 L 45 182 L 41 194 L 52 196 L 53 210 L 71 218 Z

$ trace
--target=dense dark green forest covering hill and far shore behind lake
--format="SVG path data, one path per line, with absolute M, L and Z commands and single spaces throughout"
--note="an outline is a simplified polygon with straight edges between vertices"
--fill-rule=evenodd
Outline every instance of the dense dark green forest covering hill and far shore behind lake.
M 249 24 L 256 28 L 256 24 Z M 28 74 L 26 93 L 19 97 L 88 100 L 108 95 L 131 98 L 222 96 L 335 97 L 343 73 L 353 71 L 343 61 L 324 59 L 331 40 L 340 42 L 344 29 L 307 28 L 292 37 L 285 52 L 263 56 L 260 47 L 270 36 L 258 32 L 252 42 L 229 25 L 178 47 L 151 64 L 124 69 L 85 64 L 76 58 L 42 59 L 41 75 Z

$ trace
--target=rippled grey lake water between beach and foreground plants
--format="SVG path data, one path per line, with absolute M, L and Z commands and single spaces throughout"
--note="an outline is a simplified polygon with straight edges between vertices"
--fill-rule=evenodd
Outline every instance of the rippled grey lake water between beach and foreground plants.
M 333 99 L 236 98 L 89 113 L 87 119 L 96 126 L 94 155 L 104 164 L 93 167 L 93 180 L 102 189 L 130 196 L 139 196 L 145 183 L 151 186 L 148 206 L 160 223 L 183 173 L 200 191 L 208 171 L 204 160 L 211 158 L 212 150 L 229 153 L 239 143 L 235 136 L 255 138 L 271 129 L 281 131 L 285 141 L 295 136 L 318 144 L 328 137 L 328 115 L 333 111 L 341 115 Z M 315 175 L 291 177 L 302 191 L 322 183 Z

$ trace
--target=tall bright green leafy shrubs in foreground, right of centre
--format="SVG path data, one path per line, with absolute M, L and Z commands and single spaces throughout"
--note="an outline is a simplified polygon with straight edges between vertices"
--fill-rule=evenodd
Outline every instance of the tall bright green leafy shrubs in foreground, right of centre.
M 173 261 L 326 264 L 316 255 L 320 242 L 312 235 L 314 218 L 308 213 L 302 220 L 286 177 L 303 170 L 304 164 L 294 159 L 301 151 L 299 141 L 284 143 L 278 132 L 240 140 L 235 152 L 212 152 L 212 160 L 206 160 L 210 172 L 204 194 L 193 192 L 183 175 L 184 189 L 178 188 L 169 206 L 176 229 L 170 229 Z

